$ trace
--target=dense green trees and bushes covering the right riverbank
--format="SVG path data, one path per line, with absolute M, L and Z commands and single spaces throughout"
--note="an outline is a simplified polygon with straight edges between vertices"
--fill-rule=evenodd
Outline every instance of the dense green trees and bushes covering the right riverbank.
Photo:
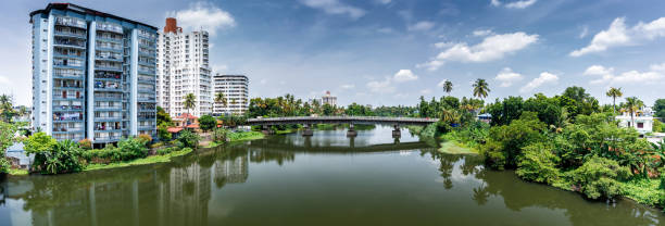
M 514 170 L 525 181 L 574 191 L 589 200 L 629 199 L 665 206 L 665 143 L 651 143 L 636 128 L 620 127 L 615 120 L 619 113 L 641 114 L 639 99 L 601 106 L 584 88 L 569 87 L 554 97 L 509 97 L 472 108 L 462 102 L 454 97 L 422 99 L 418 109 L 424 115 L 419 116 L 440 122 L 410 127 L 410 131 L 437 139 L 440 152 L 476 150 L 486 167 Z M 488 123 L 475 118 L 485 113 L 491 118 Z

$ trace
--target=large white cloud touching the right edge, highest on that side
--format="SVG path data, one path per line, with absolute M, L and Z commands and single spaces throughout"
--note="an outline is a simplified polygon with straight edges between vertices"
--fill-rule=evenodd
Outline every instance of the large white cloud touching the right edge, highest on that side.
M 615 18 L 606 30 L 593 36 L 591 43 L 570 52 L 570 56 L 580 56 L 587 53 L 602 52 L 613 47 L 640 45 L 665 36 L 665 17 L 650 23 L 639 22 L 633 27 L 626 27 L 626 18 Z

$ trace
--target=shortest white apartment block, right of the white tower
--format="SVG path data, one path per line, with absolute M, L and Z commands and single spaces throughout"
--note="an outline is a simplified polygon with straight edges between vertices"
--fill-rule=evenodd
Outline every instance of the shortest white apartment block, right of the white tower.
M 214 102 L 214 114 L 244 114 L 249 109 L 249 78 L 244 75 L 221 75 L 213 77 L 215 93 L 224 93 L 224 102 Z

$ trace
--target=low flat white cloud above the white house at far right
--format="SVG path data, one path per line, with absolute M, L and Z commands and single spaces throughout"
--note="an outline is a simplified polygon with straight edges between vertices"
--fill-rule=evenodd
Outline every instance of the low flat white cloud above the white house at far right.
M 651 71 L 638 72 L 628 71 L 615 75 L 613 67 L 604 67 L 602 65 L 592 65 L 585 71 L 585 75 L 599 77 L 590 81 L 590 84 L 640 84 L 663 81 L 665 79 L 665 63 L 654 64 L 650 66 Z

